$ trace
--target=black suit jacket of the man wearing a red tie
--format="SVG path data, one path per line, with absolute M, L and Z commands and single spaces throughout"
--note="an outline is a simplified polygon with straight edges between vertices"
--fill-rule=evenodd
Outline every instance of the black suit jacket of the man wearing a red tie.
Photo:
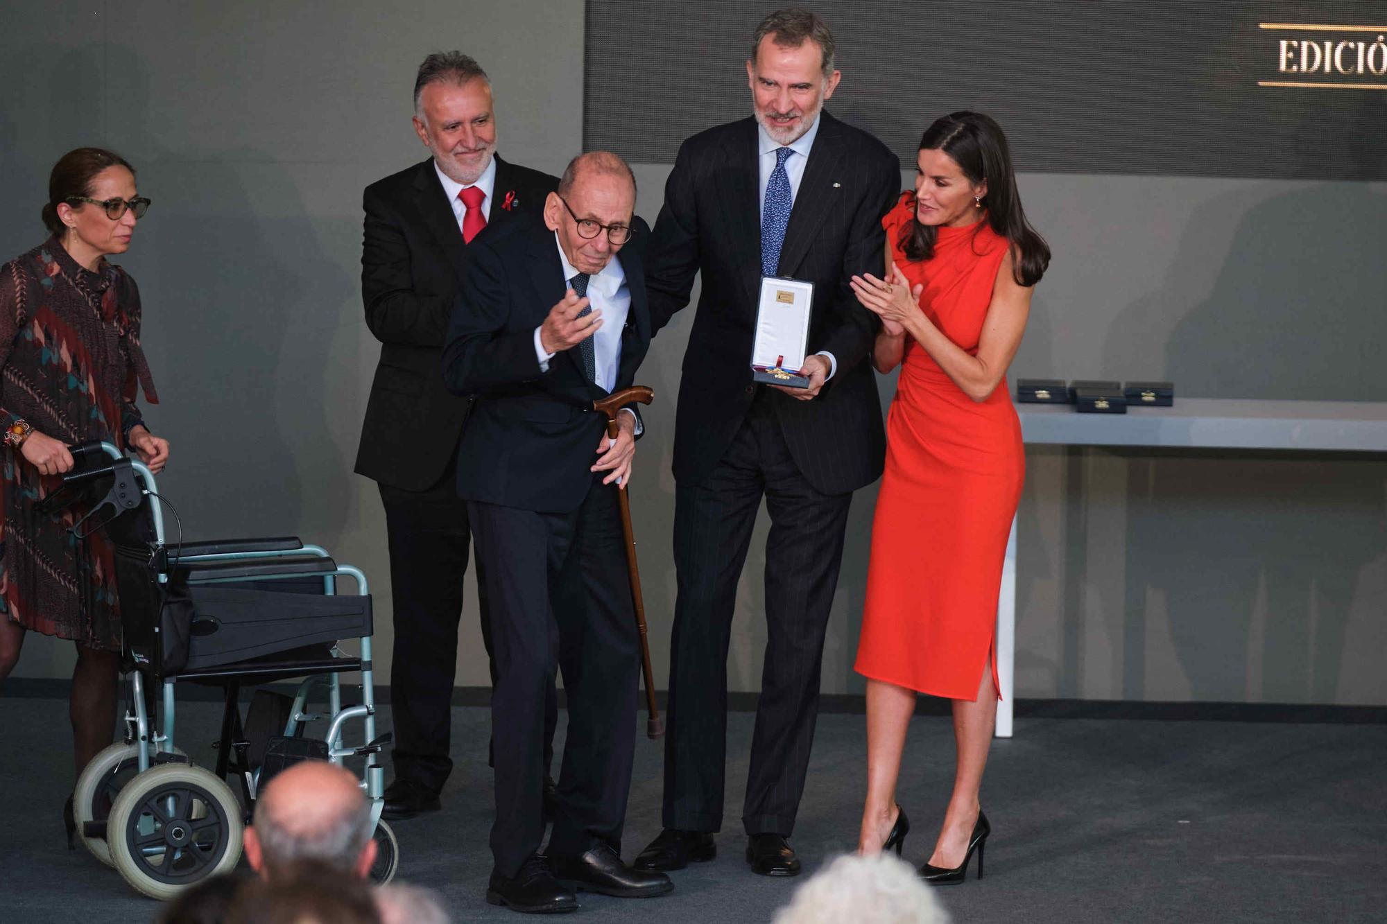
M 366 326 L 381 347 L 358 474 L 406 491 L 423 491 L 442 477 L 470 404 L 449 394 L 438 375 L 466 254 L 516 216 L 541 214 L 558 186 L 555 176 L 497 157 L 491 215 L 472 244 L 462 240 L 431 158 L 366 187 L 361 294 Z M 508 193 L 515 193 L 510 208 L 503 207 Z

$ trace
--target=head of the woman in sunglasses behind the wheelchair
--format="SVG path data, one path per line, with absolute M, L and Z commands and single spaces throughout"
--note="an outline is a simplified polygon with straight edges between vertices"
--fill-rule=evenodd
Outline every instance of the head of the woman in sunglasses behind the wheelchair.
M 123 254 L 130 247 L 135 222 L 148 207 L 136 198 L 135 168 L 114 151 L 79 147 L 53 165 L 43 225 L 57 234 L 75 258 Z M 97 201 L 87 201 L 97 200 Z

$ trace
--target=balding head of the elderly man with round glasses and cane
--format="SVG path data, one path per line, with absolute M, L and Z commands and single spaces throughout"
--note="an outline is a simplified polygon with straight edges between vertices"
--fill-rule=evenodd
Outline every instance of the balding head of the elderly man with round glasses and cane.
M 634 218 L 635 173 L 612 151 L 589 151 L 569 161 L 559 191 L 544 203 L 544 223 L 558 232 L 563 255 L 589 275 L 602 272 L 630 240 Z

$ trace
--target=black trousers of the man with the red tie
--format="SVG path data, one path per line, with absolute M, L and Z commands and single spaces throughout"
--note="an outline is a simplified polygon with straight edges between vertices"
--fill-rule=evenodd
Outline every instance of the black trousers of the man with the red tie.
M 395 742 L 395 778 L 412 780 L 440 792 L 452 771 L 452 687 L 458 666 L 458 624 L 462 622 L 463 577 L 467 572 L 467 504 L 458 497 L 455 465 L 426 491 L 380 484 L 390 544 L 390 599 L 395 647 L 390 660 L 390 710 Z M 491 623 L 485 574 L 477 561 L 477 608 L 481 644 L 491 662 Z M 549 687 L 545 769 L 553 755 L 559 703 Z

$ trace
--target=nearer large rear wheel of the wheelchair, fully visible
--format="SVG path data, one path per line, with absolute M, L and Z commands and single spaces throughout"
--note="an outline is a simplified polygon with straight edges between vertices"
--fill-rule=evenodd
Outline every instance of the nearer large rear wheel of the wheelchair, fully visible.
M 125 881 L 164 900 L 234 869 L 243 828 L 236 794 L 215 773 L 169 763 L 121 789 L 107 819 L 107 844 Z

